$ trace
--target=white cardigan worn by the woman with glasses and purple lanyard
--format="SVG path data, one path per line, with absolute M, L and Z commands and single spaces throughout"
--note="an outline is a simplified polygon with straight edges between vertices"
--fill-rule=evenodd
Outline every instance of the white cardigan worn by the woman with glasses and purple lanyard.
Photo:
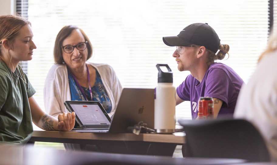
M 91 62 L 86 63 L 93 66 L 101 76 L 101 80 L 111 100 L 111 112 L 108 114 L 112 116 L 115 113 L 115 108 L 121 95 L 121 83 L 111 66 Z M 63 104 L 64 101 L 71 100 L 65 64 L 55 64 L 50 68 L 44 84 L 43 97 L 46 113 L 57 118 L 60 113 L 68 112 Z

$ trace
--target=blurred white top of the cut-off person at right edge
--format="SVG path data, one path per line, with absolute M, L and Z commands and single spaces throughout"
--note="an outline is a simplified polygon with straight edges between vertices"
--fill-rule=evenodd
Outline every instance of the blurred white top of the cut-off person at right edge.
M 277 161 L 277 51 L 266 55 L 241 87 L 234 118 L 250 121 L 262 134 L 272 161 Z

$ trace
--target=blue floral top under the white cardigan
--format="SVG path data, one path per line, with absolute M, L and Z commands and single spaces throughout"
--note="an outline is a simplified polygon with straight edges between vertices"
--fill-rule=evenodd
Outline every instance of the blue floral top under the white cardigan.
M 89 88 L 85 88 L 82 86 L 85 97 L 83 96 L 81 90 L 78 88 L 77 83 L 75 82 L 72 74 L 67 71 L 68 79 L 69 79 L 69 87 L 70 87 L 70 94 L 71 94 L 71 100 L 72 101 L 86 101 L 86 98 L 88 101 L 91 101 L 91 94 L 89 91 Z M 107 94 L 107 91 L 103 85 L 103 82 L 101 80 L 100 74 L 96 70 L 96 78 L 94 86 L 91 87 L 92 90 L 92 101 L 99 101 L 107 113 L 111 112 L 111 100 Z

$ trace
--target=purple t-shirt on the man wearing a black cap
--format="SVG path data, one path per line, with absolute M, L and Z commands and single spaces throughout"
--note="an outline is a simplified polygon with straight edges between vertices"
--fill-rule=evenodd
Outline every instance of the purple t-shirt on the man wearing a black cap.
M 198 115 L 200 97 L 213 97 L 223 101 L 218 117 L 233 115 L 243 80 L 229 66 L 214 62 L 200 83 L 191 74 L 177 87 L 177 95 L 190 101 L 192 119 Z

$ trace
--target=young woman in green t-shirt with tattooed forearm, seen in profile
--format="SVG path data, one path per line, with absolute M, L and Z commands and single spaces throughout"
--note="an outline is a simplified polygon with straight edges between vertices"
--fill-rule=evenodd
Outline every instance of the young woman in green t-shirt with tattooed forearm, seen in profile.
M 32 38 L 29 21 L 0 16 L 0 144 L 27 143 L 33 133 L 32 122 L 43 130 L 60 131 L 71 130 L 75 124 L 75 113 L 63 113 L 56 119 L 36 103 L 36 91 L 19 65 L 32 59 L 36 49 Z

